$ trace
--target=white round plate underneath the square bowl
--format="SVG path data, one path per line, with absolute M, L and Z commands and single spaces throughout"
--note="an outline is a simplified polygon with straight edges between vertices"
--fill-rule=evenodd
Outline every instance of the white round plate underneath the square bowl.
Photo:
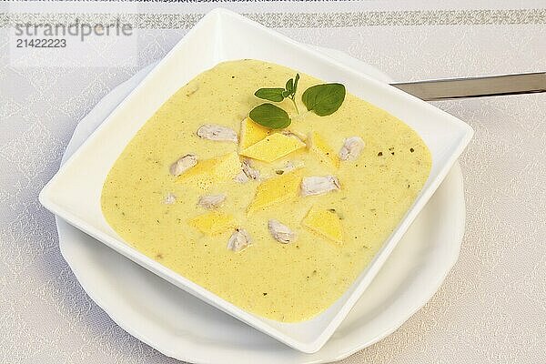
M 370 76 L 389 80 L 355 58 L 321 50 Z M 153 66 L 117 86 L 95 106 L 76 127 L 64 160 Z M 343 359 L 398 329 L 432 297 L 457 260 L 464 220 L 462 176 L 456 164 L 347 319 L 314 354 L 290 349 L 212 308 L 61 219 L 57 227 L 61 253 L 89 297 L 137 339 L 189 362 L 267 364 Z

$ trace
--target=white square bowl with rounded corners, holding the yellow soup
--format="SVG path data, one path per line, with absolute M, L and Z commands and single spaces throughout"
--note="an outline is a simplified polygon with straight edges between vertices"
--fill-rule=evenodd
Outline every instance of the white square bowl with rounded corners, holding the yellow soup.
M 387 110 L 416 130 L 430 148 L 430 177 L 399 226 L 359 278 L 331 307 L 314 319 L 282 323 L 238 308 L 131 248 L 106 223 L 100 207 L 103 183 L 116 158 L 147 119 L 189 80 L 217 63 L 255 58 L 340 82 L 350 93 Z M 470 126 L 399 89 L 359 74 L 284 35 L 223 9 L 208 13 L 117 106 L 44 187 L 40 202 L 58 217 L 104 242 L 144 268 L 290 347 L 319 350 L 347 316 L 399 239 L 427 203 L 470 142 Z

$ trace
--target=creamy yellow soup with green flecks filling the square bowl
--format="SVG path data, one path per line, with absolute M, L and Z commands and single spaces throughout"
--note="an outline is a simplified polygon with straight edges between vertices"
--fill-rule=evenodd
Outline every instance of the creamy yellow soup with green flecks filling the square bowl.
M 243 183 L 232 176 L 184 177 L 200 164 L 214 173 L 215 163 L 226 156 L 242 161 L 241 139 L 253 145 L 259 141 L 253 138 L 279 133 L 264 129 L 259 137 L 243 135 L 252 123 L 246 119 L 248 112 L 264 102 L 254 92 L 282 87 L 295 74 L 258 60 L 225 62 L 200 74 L 136 133 L 109 172 L 101 198 L 107 222 L 132 247 L 240 308 L 285 322 L 313 318 L 349 288 L 399 224 L 431 167 L 430 151 L 420 136 L 356 96 L 347 94 L 329 116 L 306 111 L 301 93 L 323 82 L 299 73 L 301 115 L 288 99 L 278 105 L 292 116 L 288 130 L 293 135 L 285 134 L 305 147 L 271 162 L 250 158 L 259 177 Z M 197 136 L 205 124 L 231 128 L 238 143 Z M 355 160 L 339 160 L 339 150 L 351 136 L 359 136 L 365 147 Z M 314 137 L 326 149 L 313 150 Z M 197 156 L 197 166 L 179 177 L 169 173 L 188 154 Z M 220 175 L 233 173 L 222 171 Z M 339 189 L 319 196 L 302 196 L 296 190 L 303 177 L 323 176 L 337 177 Z M 268 195 L 267 188 L 277 181 L 286 196 L 257 204 L 257 190 Z M 197 204 L 200 197 L 215 194 L 226 196 L 220 206 Z M 309 222 L 311 210 L 319 214 Z M 211 230 L 198 228 L 196 217 L 210 214 L 218 217 L 205 222 Z M 270 219 L 289 227 L 295 238 L 287 244 L 275 239 Z M 338 238 L 320 231 L 331 224 L 340 228 Z M 251 238 L 251 245 L 237 252 L 227 248 L 236 229 Z

